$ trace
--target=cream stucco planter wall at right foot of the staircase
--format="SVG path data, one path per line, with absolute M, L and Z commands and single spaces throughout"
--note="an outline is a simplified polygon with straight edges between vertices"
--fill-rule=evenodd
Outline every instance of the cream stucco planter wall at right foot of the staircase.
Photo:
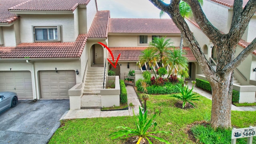
M 100 90 L 101 106 L 120 106 L 120 83 L 119 76 L 108 76 L 107 80 L 115 80 L 115 88 L 105 88 Z

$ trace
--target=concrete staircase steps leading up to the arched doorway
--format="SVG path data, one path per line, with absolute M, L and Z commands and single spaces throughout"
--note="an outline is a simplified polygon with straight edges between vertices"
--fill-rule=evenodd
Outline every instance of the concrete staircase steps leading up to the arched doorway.
M 100 90 L 103 88 L 104 80 L 104 67 L 90 67 L 87 70 L 85 83 L 84 83 L 84 92 L 83 95 L 98 95 Z M 106 86 L 106 73 L 105 73 L 105 82 Z

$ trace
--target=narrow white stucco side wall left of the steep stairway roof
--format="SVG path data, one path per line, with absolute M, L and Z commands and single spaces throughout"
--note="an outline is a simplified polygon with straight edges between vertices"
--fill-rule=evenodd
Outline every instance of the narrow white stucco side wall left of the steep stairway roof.
M 86 6 L 86 18 L 87 18 L 87 32 L 92 24 L 92 20 L 97 12 L 96 9 L 96 0 L 91 0 L 89 4 Z M 86 32 L 86 33 L 87 33 Z

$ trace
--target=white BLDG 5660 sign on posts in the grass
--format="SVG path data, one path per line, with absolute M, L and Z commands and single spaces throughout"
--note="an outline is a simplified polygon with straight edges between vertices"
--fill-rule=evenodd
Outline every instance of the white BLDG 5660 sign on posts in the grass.
M 247 144 L 252 144 L 252 138 L 256 136 L 256 127 L 249 128 L 233 128 L 231 136 L 231 144 L 236 144 L 237 138 L 247 138 Z

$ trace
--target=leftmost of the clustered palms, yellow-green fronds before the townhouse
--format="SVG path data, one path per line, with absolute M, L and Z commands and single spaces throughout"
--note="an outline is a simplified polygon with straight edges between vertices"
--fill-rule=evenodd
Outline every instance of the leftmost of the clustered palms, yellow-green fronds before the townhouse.
M 147 63 L 147 71 L 152 66 L 156 66 L 156 60 L 158 60 L 158 55 L 156 51 L 152 50 L 151 48 L 147 48 L 142 51 L 142 54 L 139 56 L 140 66 L 144 66 Z

